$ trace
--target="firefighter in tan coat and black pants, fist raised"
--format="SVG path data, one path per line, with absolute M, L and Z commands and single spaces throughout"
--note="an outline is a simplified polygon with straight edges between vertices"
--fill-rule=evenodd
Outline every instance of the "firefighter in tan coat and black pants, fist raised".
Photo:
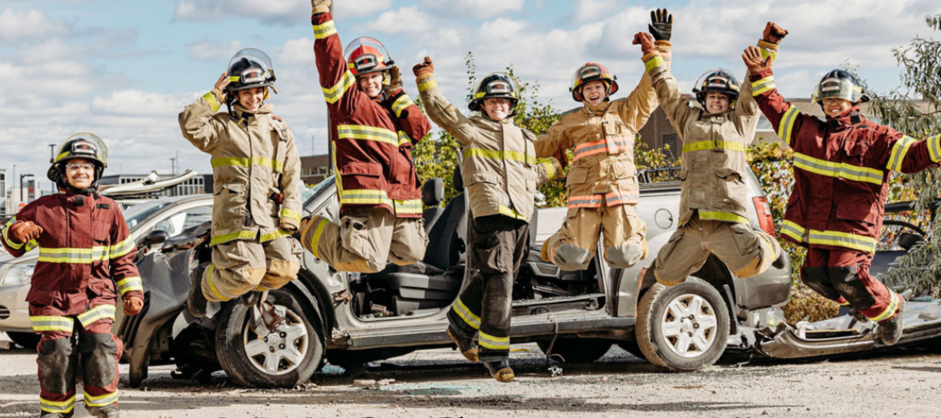
M 468 360 L 484 363 L 490 376 L 512 381 L 510 305 L 517 271 L 529 253 L 535 186 L 556 178 L 562 166 L 554 158 L 536 161 L 534 134 L 514 123 L 519 86 L 511 76 L 493 72 L 482 78 L 469 106 L 481 115 L 467 117 L 441 95 L 430 58 L 413 71 L 428 116 L 463 147 L 461 173 L 473 219 L 473 275 L 448 312 L 448 335 Z

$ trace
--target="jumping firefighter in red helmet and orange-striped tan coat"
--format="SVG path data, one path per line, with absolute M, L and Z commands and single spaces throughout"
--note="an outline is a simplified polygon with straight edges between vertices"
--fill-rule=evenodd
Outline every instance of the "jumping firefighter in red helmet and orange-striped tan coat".
M 672 17 L 651 12 L 650 25 L 665 61 L 670 57 Z M 644 74 L 626 100 L 609 101 L 618 90 L 614 75 L 587 63 L 572 76 L 571 92 L 583 106 L 564 114 L 536 142 L 536 155 L 549 157 L 574 148 L 568 170 L 565 224 L 542 247 L 542 258 L 563 270 L 585 270 L 604 231 L 604 258 L 611 267 L 628 268 L 646 257 L 646 224 L 637 216 L 639 202 L 634 136 L 657 107 L 657 95 Z

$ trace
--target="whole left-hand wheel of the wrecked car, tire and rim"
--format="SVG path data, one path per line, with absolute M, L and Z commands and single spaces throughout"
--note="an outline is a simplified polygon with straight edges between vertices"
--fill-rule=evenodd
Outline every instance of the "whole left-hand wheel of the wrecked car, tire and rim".
M 268 291 L 267 302 L 286 309 L 286 320 L 279 324 L 279 333 L 256 333 L 250 325 L 254 307 L 231 302 L 219 314 L 215 355 L 236 384 L 293 388 L 311 379 L 324 356 L 324 340 L 314 326 L 316 313 L 288 288 Z

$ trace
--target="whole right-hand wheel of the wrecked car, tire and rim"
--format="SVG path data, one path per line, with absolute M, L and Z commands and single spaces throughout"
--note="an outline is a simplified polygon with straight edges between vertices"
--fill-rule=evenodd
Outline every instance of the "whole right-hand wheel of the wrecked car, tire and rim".
M 695 371 L 714 364 L 726 350 L 726 302 L 702 280 L 690 277 L 677 286 L 651 286 L 637 309 L 637 345 L 651 364 Z

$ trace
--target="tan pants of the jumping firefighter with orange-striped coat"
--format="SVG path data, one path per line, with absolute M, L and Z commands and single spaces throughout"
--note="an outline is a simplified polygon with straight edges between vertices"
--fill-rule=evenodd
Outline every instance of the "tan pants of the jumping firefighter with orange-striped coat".
M 640 246 L 641 258 L 646 258 L 646 224 L 631 204 L 568 209 L 565 224 L 546 240 L 540 255 L 562 270 L 585 270 L 595 257 L 602 231 L 604 259 L 611 267 L 630 267 L 631 245 Z

